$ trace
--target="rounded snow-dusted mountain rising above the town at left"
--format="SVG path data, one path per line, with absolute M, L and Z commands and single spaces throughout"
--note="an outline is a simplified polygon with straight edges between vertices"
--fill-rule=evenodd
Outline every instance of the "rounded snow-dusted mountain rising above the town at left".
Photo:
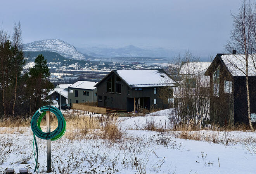
M 60 39 L 45 39 L 24 44 L 23 51 L 52 51 L 66 58 L 77 60 L 85 59 L 85 56 L 76 50 L 74 46 Z

